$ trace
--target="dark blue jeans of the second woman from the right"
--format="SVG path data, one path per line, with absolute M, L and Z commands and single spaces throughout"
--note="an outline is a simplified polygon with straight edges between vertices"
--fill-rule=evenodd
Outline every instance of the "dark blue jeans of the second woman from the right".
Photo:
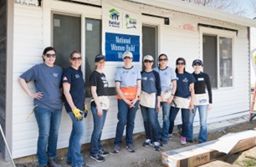
M 169 134 L 172 134 L 172 130 L 174 127 L 174 121 L 176 119 L 177 113 L 179 112 L 180 108 L 172 107 L 170 113 L 170 129 Z M 182 137 L 187 138 L 188 134 L 188 122 L 189 122 L 189 113 L 192 113 L 189 109 L 182 109 Z

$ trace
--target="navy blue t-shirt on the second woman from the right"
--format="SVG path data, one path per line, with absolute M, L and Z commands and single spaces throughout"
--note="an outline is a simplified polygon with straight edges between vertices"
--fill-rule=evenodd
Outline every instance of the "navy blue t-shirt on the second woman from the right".
M 191 93 L 189 90 L 189 85 L 195 83 L 196 79 L 191 73 L 176 73 L 177 74 L 177 90 L 175 95 L 182 98 L 188 98 Z

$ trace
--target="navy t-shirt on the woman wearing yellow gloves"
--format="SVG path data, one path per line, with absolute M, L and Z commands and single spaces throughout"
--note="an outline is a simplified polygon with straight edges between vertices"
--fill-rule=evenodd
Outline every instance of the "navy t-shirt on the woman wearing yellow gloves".
M 77 109 L 84 110 L 84 78 L 83 73 L 80 69 L 76 70 L 72 67 L 67 68 L 62 77 L 62 82 L 70 84 L 69 93 L 73 99 L 73 103 Z M 71 112 L 72 109 L 69 103 L 65 100 L 65 108 L 67 112 Z

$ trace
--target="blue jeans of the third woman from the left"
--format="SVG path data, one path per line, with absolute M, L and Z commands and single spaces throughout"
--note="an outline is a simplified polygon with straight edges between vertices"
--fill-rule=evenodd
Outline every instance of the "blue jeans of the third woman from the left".
M 107 110 L 103 109 L 102 115 L 98 116 L 97 108 L 95 106 L 91 106 L 90 109 L 94 117 L 94 131 L 91 134 L 91 139 L 90 139 L 90 154 L 94 156 L 96 154 L 99 154 L 99 151 L 102 150 L 102 147 L 100 144 L 100 138 L 102 134 L 102 129 L 105 124 L 105 117 L 107 114 Z

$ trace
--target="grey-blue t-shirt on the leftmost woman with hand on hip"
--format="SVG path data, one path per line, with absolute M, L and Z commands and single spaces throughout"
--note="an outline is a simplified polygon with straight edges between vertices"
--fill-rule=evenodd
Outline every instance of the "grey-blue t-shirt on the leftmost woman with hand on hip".
M 34 81 L 36 92 L 42 92 L 42 99 L 33 99 L 33 104 L 43 109 L 62 109 L 61 83 L 62 68 L 57 65 L 49 67 L 40 63 L 20 75 L 28 83 Z

